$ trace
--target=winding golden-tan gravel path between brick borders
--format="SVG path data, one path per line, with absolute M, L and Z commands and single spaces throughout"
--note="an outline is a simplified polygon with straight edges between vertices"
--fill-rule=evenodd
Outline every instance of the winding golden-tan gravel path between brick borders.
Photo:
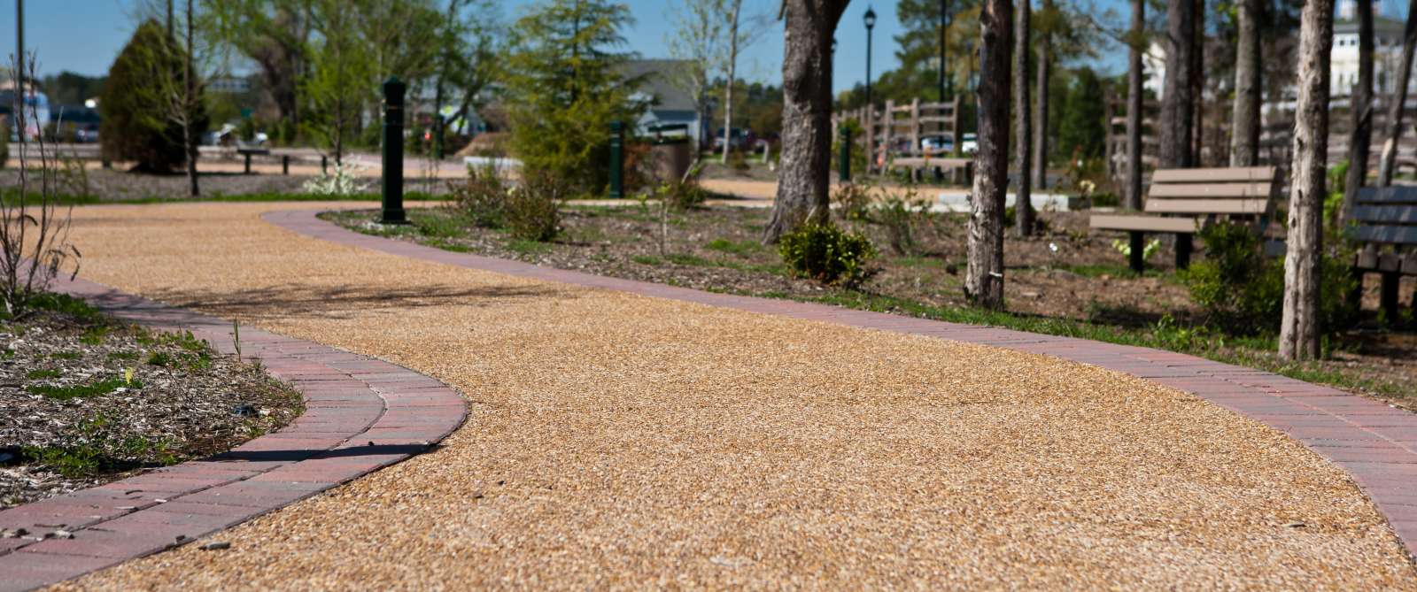
M 228 551 L 68 586 L 1417 589 L 1342 472 L 1190 395 L 401 259 L 276 207 L 79 210 L 84 276 L 427 372 L 466 425 Z

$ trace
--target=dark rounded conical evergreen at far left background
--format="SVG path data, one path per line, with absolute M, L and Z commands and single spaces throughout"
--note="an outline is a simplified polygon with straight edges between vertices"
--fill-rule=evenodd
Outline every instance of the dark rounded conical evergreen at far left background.
M 103 157 L 135 161 L 135 170 L 150 173 L 171 173 L 187 160 L 170 96 L 184 68 L 184 51 L 162 24 L 149 20 L 137 27 L 109 68 L 99 101 Z M 191 116 L 201 129 L 204 115 Z

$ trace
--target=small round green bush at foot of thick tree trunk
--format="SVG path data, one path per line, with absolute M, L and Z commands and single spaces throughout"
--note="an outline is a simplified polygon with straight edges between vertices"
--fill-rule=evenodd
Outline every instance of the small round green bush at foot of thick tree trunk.
M 860 234 L 806 224 L 782 235 L 778 254 L 794 275 L 852 286 L 870 276 L 866 263 L 876 256 L 876 248 Z

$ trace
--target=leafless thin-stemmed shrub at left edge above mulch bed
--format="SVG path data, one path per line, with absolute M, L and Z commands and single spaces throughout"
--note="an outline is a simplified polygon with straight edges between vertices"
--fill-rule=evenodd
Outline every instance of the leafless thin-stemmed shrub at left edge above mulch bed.
M 0 300 L 7 316 L 21 317 L 27 313 L 30 299 L 50 288 L 61 268 L 72 265 L 78 275 L 79 249 L 68 241 L 69 218 L 74 207 L 60 205 L 58 159 L 54 150 L 45 150 L 44 135 L 35 136 L 37 150 L 30 149 L 30 118 L 35 115 L 26 106 L 26 95 L 33 99 L 33 82 L 37 81 L 34 55 L 11 57 L 10 76 L 16 92 L 10 105 L 11 122 L 18 130 L 18 186 L 0 191 Z M 38 163 L 30 161 L 37 154 Z M 34 174 L 40 178 L 35 183 Z

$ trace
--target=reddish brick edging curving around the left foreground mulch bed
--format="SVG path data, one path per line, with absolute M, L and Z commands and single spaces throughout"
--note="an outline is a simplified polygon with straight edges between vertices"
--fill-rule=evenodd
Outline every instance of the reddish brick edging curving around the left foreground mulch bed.
M 230 321 L 85 280 L 54 286 L 116 317 L 191 331 L 234 354 Z M 231 452 L 0 511 L 0 592 L 26 591 L 149 555 L 289 506 L 427 450 L 466 404 L 408 368 L 241 327 L 241 354 L 292 384 L 305 414 Z M 67 531 L 72 538 L 57 537 Z

